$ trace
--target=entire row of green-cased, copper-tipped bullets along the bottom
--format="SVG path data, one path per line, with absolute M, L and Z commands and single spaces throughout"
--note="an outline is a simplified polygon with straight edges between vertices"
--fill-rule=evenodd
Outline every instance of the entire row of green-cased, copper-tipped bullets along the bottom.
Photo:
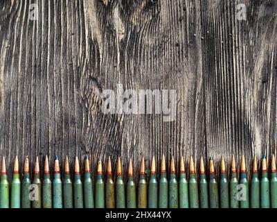
M 44 178 L 40 180 L 39 160 L 35 161 L 33 181 L 30 180 L 28 156 L 24 162 L 23 178 L 19 176 L 19 162 L 15 157 L 12 184 L 9 187 L 5 157 L 1 165 L 0 207 L 1 208 L 277 208 L 277 172 L 274 155 L 271 157 L 271 178 L 267 172 L 267 158 L 262 156 L 262 172 L 259 176 L 257 157 L 253 157 L 251 180 L 242 155 L 240 178 L 238 180 L 235 157 L 231 160 L 230 180 L 222 157 L 220 180 L 215 178 L 213 158 L 209 160 L 208 179 L 201 157 L 197 177 L 193 157 L 190 157 L 187 180 L 185 161 L 181 157 L 179 178 L 175 161 L 170 162 L 169 178 L 166 173 L 166 160 L 163 155 L 159 178 L 156 161 L 153 157 L 150 178 L 145 171 L 142 158 L 139 169 L 139 182 L 134 182 L 132 160 L 127 170 L 127 183 L 123 180 L 120 157 L 116 167 L 116 179 L 111 172 L 111 160 L 107 163 L 104 180 L 102 162 L 98 162 L 96 181 L 91 179 L 89 157 L 84 160 L 84 175 L 80 174 L 78 157 L 75 158 L 74 181 L 71 180 L 69 160 L 66 156 L 62 181 L 58 157 L 55 157 L 53 180 L 48 157 L 44 161 Z M 9 191 L 11 189 L 11 191 Z

